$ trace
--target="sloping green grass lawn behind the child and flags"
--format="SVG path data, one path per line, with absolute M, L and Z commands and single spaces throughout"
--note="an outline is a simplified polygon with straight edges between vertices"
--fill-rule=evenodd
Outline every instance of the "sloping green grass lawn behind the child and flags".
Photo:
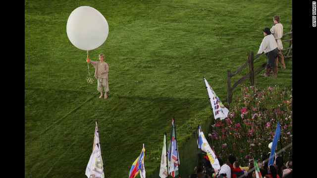
M 104 45 L 89 51 L 95 61 L 106 55 L 107 99 L 98 98 L 96 79 L 87 83 L 87 53 L 66 34 L 68 16 L 84 5 L 99 10 L 109 25 Z M 159 167 L 171 118 L 181 149 L 199 124 L 212 119 L 203 77 L 227 105 L 227 70 L 258 51 L 274 15 L 289 32 L 292 1 L 25 1 L 25 178 L 85 178 L 96 120 L 108 178 L 128 177 L 143 142 L 149 177 Z M 261 55 L 255 68 L 265 61 Z M 277 78 L 257 73 L 257 86 L 292 88 L 292 58 L 285 63 Z

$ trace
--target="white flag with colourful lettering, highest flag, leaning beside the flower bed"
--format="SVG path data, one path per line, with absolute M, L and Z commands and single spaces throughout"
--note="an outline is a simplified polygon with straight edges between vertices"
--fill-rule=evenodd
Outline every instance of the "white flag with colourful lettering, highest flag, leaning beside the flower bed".
M 220 99 L 216 95 L 216 93 L 211 89 L 211 86 L 205 80 L 206 89 L 210 98 L 211 109 L 213 111 L 214 119 L 220 118 L 220 120 L 228 117 L 229 110 L 221 103 Z

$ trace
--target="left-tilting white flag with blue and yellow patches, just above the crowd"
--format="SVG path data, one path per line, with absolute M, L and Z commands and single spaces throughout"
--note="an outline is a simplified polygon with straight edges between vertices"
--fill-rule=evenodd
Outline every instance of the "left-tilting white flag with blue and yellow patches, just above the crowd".
M 199 126 L 198 129 L 198 148 L 201 148 L 203 151 L 205 151 L 208 155 L 209 161 L 211 162 L 211 166 L 212 168 L 215 170 L 215 174 L 217 174 L 219 172 L 220 169 L 220 164 L 219 161 L 216 157 L 216 155 L 214 154 L 214 152 L 212 151 L 210 145 L 208 144 L 208 141 L 202 131 L 202 128 Z

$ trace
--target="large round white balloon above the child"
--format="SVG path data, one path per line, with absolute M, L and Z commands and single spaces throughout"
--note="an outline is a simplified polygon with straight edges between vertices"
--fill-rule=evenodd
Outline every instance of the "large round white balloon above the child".
M 74 46 L 92 50 L 105 43 L 109 27 L 106 18 L 98 10 L 90 6 L 80 6 L 69 15 L 66 32 Z

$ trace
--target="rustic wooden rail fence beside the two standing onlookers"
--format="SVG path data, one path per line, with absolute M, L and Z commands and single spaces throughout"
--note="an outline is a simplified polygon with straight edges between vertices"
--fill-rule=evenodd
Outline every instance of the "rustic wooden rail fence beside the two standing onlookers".
M 272 26 L 273 26 L 274 22 L 272 23 Z M 272 27 L 271 26 L 271 27 Z M 291 31 L 284 34 L 284 36 L 287 36 L 289 35 L 290 38 L 288 40 L 282 40 L 282 42 L 289 42 L 289 45 L 287 48 L 283 48 L 282 51 L 284 50 L 287 50 L 287 53 L 286 55 L 283 53 L 283 56 L 284 56 L 284 59 L 285 58 L 291 58 L 292 55 L 289 55 L 290 54 L 290 51 L 293 50 L 293 20 L 291 20 Z M 261 53 L 263 54 L 263 53 Z M 259 72 L 261 69 L 263 69 L 265 66 L 266 66 L 266 62 L 264 64 L 262 64 L 259 68 L 257 68 L 256 70 L 254 70 L 254 60 L 257 59 L 261 54 L 257 54 L 255 57 L 254 57 L 254 52 L 248 52 L 247 53 L 247 56 L 248 56 L 248 59 L 233 73 L 231 73 L 231 70 L 228 69 L 227 70 L 227 83 L 228 83 L 228 89 L 227 89 L 227 97 L 228 97 L 228 103 L 231 103 L 231 93 L 232 93 L 232 90 L 234 88 L 236 88 L 241 82 L 243 82 L 244 80 L 246 80 L 247 78 L 250 77 L 250 85 L 254 86 L 254 74 Z M 246 65 L 248 64 L 248 67 L 249 67 L 249 73 L 246 74 L 245 76 L 243 76 L 242 78 L 240 78 L 236 83 L 233 84 L 233 86 L 231 87 L 231 78 L 233 76 L 235 76 L 236 74 L 238 74 Z

